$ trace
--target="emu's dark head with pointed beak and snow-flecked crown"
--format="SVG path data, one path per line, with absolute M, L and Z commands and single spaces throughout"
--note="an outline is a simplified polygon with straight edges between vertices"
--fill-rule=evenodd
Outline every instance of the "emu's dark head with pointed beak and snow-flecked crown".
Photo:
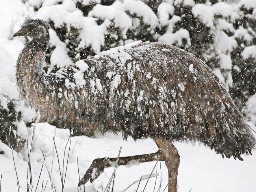
M 49 24 L 38 18 L 26 18 L 24 23 L 21 25 L 21 29 L 13 35 L 17 36 L 28 36 L 33 39 L 48 39 L 49 38 Z

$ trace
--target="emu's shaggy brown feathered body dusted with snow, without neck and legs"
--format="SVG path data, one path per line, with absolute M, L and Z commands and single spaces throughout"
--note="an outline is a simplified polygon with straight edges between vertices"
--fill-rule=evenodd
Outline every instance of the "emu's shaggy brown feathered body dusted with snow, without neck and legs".
M 240 158 L 255 146 L 215 74 L 175 46 L 152 42 L 114 48 L 45 78 L 58 96 L 52 107 L 60 106 L 67 122 L 85 129 L 121 131 L 124 138 L 199 141 L 226 157 Z

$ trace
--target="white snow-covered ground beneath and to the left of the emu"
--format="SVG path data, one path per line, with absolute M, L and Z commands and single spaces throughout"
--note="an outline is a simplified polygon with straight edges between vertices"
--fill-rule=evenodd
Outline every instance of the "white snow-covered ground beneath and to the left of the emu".
M 12 39 L 11 35 L 14 30 L 19 29 L 19 22 L 22 22 L 26 7 L 18 0 L 5 0 L 0 2 L 0 94 L 4 90 L 11 98 L 17 98 L 17 90 L 15 88 L 15 61 L 19 51 L 23 47 L 22 39 Z M 9 91 L 7 91 L 7 89 Z M 4 102 L 4 101 L 0 101 Z M 27 112 L 26 118 L 30 118 L 34 114 Z M 252 129 L 256 131 L 256 127 L 250 123 Z M 33 128 L 27 129 L 24 124 L 18 125 L 20 134 L 28 135 L 28 148 L 32 140 Z M 44 162 L 43 153 L 46 156 L 43 170 L 41 172 L 40 181 L 37 189 L 41 191 L 42 182 L 44 186 L 47 183 L 46 192 L 52 191 L 50 177 L 53 178 L 56 192 L 61 191 L 61 179 L 59 173 L 59 165 L 56 152 L 54 152 L 54 141 L 60 159 L 60 167 L 62 172 L 63 154 L 65 146 L 69 138 L 69 130 L 58 129 L 47 123 L 35 125 L 35 135 L 32 144 L 31 153 L 31 171 L 33 179 L 33 189 L 37 185 L 40 170 Z M 54 136 L 55 135 L 55 136 Z M 256 134 L 254 134 L 256 136 Z M 98 157 L 117 157 L 119 148 L 122 146 L 121 156 L 138 155 L 156 152 L 157 146 L 150 139 L 139 140 L 134 142 L 132 138 L 127 141 L 122 140 L 120 135 L 107 134 L 106 137 L 98 135 L 96 138 L 85 136 L 72 137 L 70 145 L 70 155 L 67 166 L 67 176 L 64 191 L 77 191 L 77 185 L 87 168 L 89 168 L 93 159 Z M 256 151 L 252 156 L 243 157 L 244 161 L 234 159 L 222 159 L 220 155 L 216 155 L 210 148 L 198 146 L 195 144 L 175 143 L 181 157 L 180 167 L 178 171 L 178 191 L 179 192 L 255 192 L 256 191 Z M 69 144 L 67 149 L 69 148 Z M 16 153 L 0 142 L 0 151 L 4 151 L 4 155 L 0 155 L 0 175 L 2 174 L 1 192 L 18 191 L 16 173 L 13 163 L 17 168 L 19 178 L 20 192 L 27 190 L 27 166 L 28 152 L 27 146 L 23 151 Z M 43 151 L 43 153 L 42 153 Z M 67 150 L 66 150 L 67 151 Z M 78 175 L 77 159 L 79 164 L 80 175 Z M 53 164 L 52 164 L 53 161 Z M 67 152 L 65 155 L 65 165 L 67 162 Z M 143 163 L 131 167 L 120 166 L 117 168 L 115 177 L 115 192 L 121 192 L 133 181 L 139 180 L 142 175 L 150 174 L 156 162 Z M 151 178 L 145 191 L 153 191 L 155 181 L 156 190 L 161 181 L 161 192 L 167 185 L 167 168 L 164 162 L 158 163 L 159 176 Z M 65 166 L 64 166 L 65 169 Z M 85 191 L 103 191 L 113 173 L 114 168 L 107 168 L 96 181 L 86 183 Z M 48 172 L 50 172 L 50 177 Z M 156 173 L 156 169 L 154 170 Z M 65 174 L 65 173 L 64 173 Z M 141 181 L 139 191 L 143 190 L 147 180 Z M 32 186 L 31 186 L 32 187 Z M 137 183 L 126 191 L 134 191 Z M 81 188 L 83 191 L 83 188 Z M 165 190 L 167 191 L 167 190 Z

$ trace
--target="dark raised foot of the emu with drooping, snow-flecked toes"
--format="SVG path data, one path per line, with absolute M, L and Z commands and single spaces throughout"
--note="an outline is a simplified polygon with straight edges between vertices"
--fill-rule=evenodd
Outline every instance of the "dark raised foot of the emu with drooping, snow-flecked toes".
M 97 179 L 98 176 L 103 173 L 104 168 L 109 166 L 110 164 L 108 158 L 94 159 L 91 166 L 87 169 L 85 175 L 83 175 L 83 178 L 79 181 L 78 187 L 87 183 L 89 179 L 90 182 L 93 183 L 93 181 L 95 181 L 95 179 Z

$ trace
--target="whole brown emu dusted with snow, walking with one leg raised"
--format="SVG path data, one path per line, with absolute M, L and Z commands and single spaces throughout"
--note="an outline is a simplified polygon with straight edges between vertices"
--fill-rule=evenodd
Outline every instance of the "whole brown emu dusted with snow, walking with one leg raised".
M 118 164 L 165 161 L 169 192 L 177 190 L 180 156 L 174 141 L 200 142 L 222 157 L 243 160 L 255 138 L 230 95 L 201 60 L 175 46 L 135 42 L 46 74 L 49 26 L 27 18 L 13 35 L 29 36 L 17 60 L 17 86 L 41 120 L 84 130 L 151 138 L 156 153 L 120 157 Z M 116 158 L 95 159 L 80 185 L 94 181 Z

